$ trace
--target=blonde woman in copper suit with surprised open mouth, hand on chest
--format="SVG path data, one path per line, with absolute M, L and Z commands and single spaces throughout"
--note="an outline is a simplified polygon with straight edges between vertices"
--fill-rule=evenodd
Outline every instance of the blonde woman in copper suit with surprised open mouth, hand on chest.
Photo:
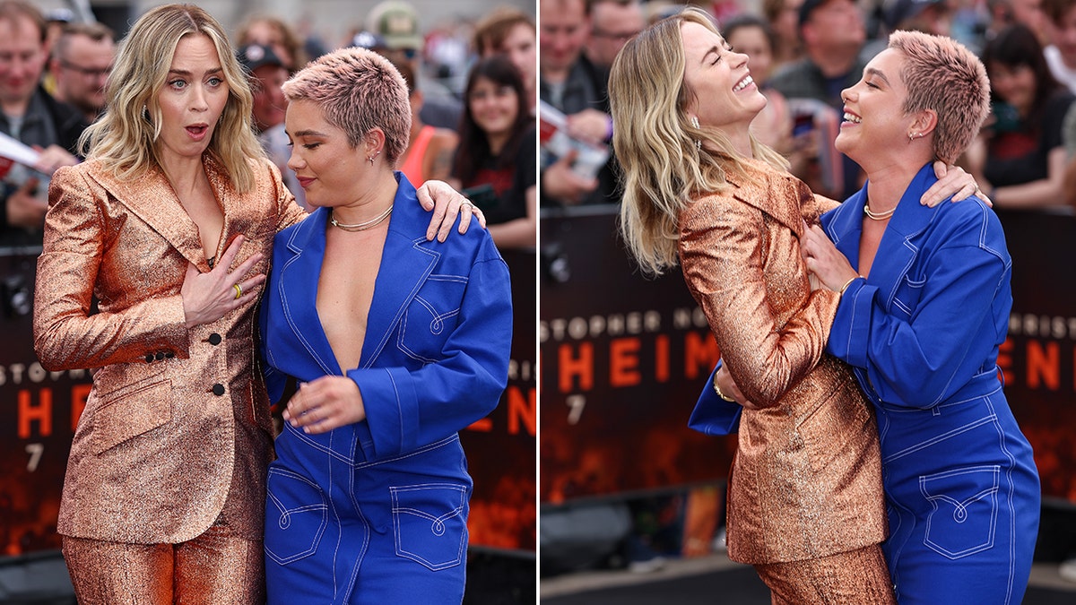
M 86 161 L 53 177 L 34 293 L 41 364 L 94 368 L 63 481 L 63 557 L 86 605 L 264 603 L 272 422 L 254 309 L 273 236 L 305 214 L 198 6 L 140 17 L 107 98 Z

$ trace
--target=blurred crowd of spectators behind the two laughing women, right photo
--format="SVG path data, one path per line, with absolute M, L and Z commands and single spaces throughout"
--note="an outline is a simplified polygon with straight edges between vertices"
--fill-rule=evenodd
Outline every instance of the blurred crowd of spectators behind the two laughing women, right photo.
M 608 145 L 608 68 L 647 24 L 680 4 L 662 0 L 539 2 L 541 100 L 568 116 L 572 137 Z M 813 191 L 844 199 L 865 174 L 833 145 L 840 90 L 886 47 L 912 30 L 951 37 L 977 54 L 991 81 L 990 117 L 955 163 L 997 208 L 1076 205 L 1076 2 L 1072 0 L 766 0 L 690 2 L 710 14 L 749 57 L 769 102 L 753 124 Z M 1067 116 L 1067 121 L 1066 121 Z M 577 154 L 543 150 L 543 208 L 618 203 L 615 154 L 599 170 L 572 170 Z

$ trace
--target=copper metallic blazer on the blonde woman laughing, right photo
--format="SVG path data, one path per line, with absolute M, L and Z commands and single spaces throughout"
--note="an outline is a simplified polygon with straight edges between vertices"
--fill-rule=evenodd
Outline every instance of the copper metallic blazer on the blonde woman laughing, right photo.
M 749 160 L 680 215 L 680 263 L 745 409 L 728 486 L 728 554 L 802 561 L 878 544 L 887 521 L 873 409 L 823 354 L 838 295 L 810 291 L 802 220 L 835 203 Z

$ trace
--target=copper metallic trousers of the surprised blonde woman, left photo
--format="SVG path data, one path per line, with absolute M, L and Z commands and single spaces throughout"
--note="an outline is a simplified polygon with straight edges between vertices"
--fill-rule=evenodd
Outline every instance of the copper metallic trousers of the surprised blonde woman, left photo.
M 260 540 L 215 524 L 182 544 L 122 544 L 63 536 L 80 605 L 263 604 Z

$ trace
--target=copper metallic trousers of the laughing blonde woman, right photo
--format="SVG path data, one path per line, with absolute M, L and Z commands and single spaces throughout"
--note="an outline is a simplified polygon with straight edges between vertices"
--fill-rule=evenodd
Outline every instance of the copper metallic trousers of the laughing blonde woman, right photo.
M 878 545 L 754 568 L 769 587 L 773 605 L 896 605 Z

